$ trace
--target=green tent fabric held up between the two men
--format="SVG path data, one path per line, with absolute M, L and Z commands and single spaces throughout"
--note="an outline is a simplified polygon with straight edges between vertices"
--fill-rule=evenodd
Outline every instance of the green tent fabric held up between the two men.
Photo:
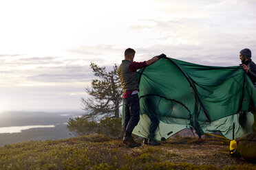
M 134 134 L 160 141 L 186 128 L 232 139 L 251 132 L 256 90 L 241 66 L 162 58 L 137 71 L 140 121 Z M 251 100 L 251 101 L 250 101 Z M 122 113 L 124 115 L 124 112 Z

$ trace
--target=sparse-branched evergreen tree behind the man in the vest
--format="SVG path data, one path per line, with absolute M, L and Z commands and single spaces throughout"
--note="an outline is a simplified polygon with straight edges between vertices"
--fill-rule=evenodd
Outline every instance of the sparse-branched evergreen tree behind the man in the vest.
M 85 88 L 92 97 L 81 98 L 83 110 L 87 111 L 83 117 L 87 119 L 105 114 L 106 117 L 118 118 L 122 102 L 122 87 L 116 72 L 116 64 L 111 71 L 106 71 L 105 66 L 100 67 L 92 62 L 90 67 L 98 79 L 92 80 L 92 88 Z

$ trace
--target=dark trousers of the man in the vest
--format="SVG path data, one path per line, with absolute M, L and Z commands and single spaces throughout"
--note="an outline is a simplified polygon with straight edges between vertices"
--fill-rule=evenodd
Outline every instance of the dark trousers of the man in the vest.
M 125 103 L 125 121 L 124 121 L 124 131 L 125 134 L 130 135 L 134 130 L 134 127 L 140 121 L 140 102 L 138 99 L 138 94 L 131 95 L 124 99 Z

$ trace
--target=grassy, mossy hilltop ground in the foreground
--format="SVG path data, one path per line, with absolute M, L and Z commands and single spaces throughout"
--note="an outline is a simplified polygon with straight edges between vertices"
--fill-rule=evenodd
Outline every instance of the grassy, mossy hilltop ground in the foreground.
M 141 140 L 141 139 L 140 139 Z M 103 135 L 28 141 L 0 147 L 1 169 L 256 169 L 228 154 L 218 138 L 169 138 L 160 146 L 128 148 Z

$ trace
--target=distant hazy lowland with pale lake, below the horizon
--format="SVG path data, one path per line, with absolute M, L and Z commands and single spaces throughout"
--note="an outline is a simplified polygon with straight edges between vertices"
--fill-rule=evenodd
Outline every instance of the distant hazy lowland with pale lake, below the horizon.
M 70 118 L 83 112 L 1 112 L 0 146 L 22 141 L 70 138 Z

